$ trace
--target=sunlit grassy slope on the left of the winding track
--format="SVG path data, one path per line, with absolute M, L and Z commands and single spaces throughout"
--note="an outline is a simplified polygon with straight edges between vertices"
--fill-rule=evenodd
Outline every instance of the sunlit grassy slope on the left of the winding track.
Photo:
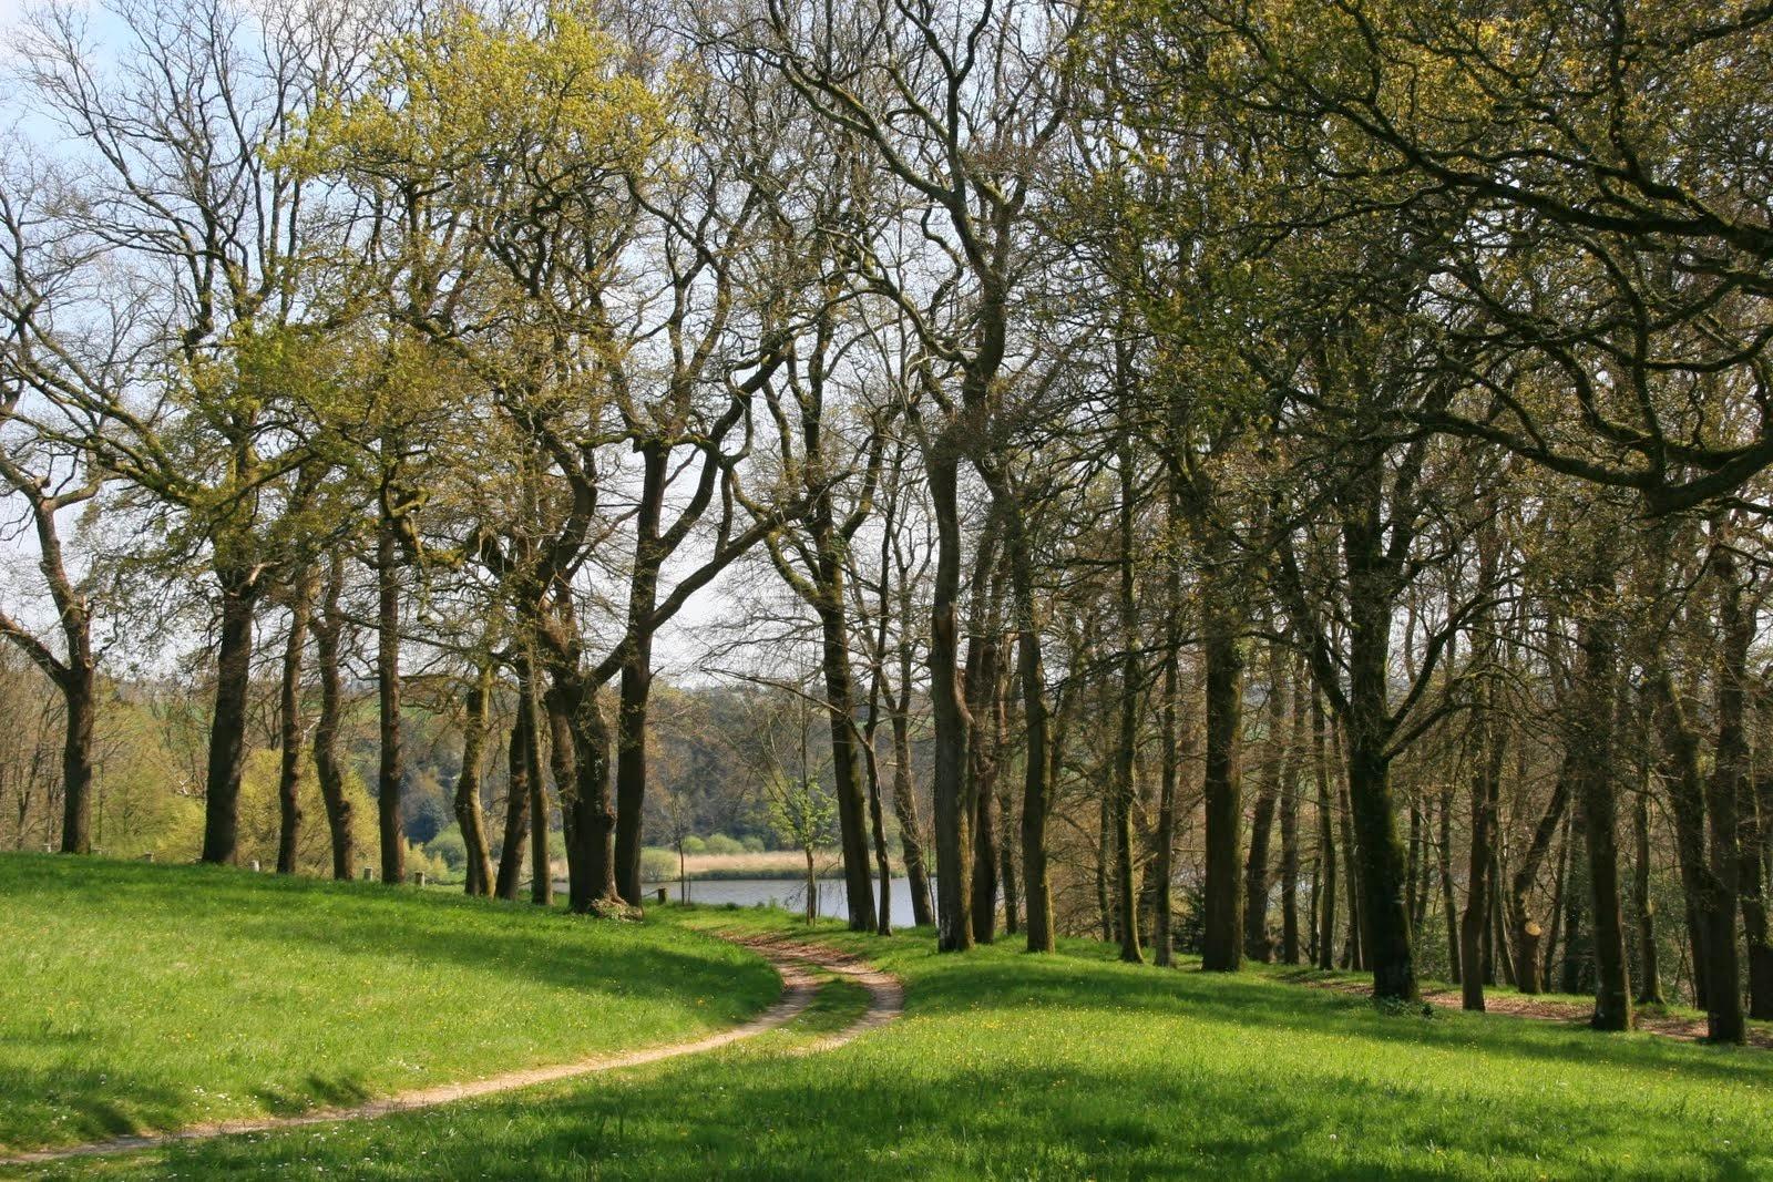
M 349 1104 L 670 1042 L 778 992 L 757 957 L 376 884 L 0 856 L 0 1145 Z

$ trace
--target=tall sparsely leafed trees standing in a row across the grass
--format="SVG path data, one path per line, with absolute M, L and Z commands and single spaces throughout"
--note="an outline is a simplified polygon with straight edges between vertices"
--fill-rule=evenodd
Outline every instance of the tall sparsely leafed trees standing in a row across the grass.
M 115 16 L 23 39 L 0 191 L 0 477 L 53 604 L 0 629 L 66 702 L 66 849 L 101 583 L 207 624 L 209 861 L 266 617 L 337 831 L 362 599 L 383 879 L 417 659 L 465 686 L 470 890 L 509 695 L 537 897 L 551 783 L 571 906 L 637 906 L 688 622 L 748 679 L 817 654 L 856 927 L 890 806 L 945 950 L 998 906 L 1051 950 L 1083 842 L 1129 960 L 1179 886 L 1207 969 L 1271 955 L 1278 893 L 1282 957 L 1340 936 L 1413 1001 L 1433 913 L 1466 1005 L 1562 941 L 1621 1030 L 1672 849 L 1713 1037 L 1745 976 L 1773 1014 L 1764 7 Z M 684 611 L 716 579 L 738 624 Z

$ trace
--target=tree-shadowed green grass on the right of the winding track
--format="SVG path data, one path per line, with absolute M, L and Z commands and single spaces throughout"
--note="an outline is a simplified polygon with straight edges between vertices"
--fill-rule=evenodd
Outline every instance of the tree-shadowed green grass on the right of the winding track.
M 665 925 L 798 930 L 672 909 Z M 656 925 L 649 923 L 649 929 Z M 1509 1017 L 1386 1017 L 1261 975 L 1160 973 L 1096 945 L 940 957 L 823 929 L 910 985 L 828 1054 L 768 1035 L 693 1060 L 324 1136 L 78 1173 L 351 1178 L 1768 1177 L 1773 1054 Z M 849 994 L 828 1008 L 855 1005 Z

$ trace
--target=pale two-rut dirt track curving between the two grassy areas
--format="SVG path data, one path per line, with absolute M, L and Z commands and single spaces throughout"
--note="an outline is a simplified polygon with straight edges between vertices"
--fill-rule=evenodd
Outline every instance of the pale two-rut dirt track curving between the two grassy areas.
M 730 937 L 725 937 L 730 939 Z M 576 1076 L 590 1076 L 596 1072 L 615 1070 L 619 1067 L 638 1067 L 640 1063 L 656 1063 L 660 1060 L 677 1058 L 681 1054 L 700 1054 L 704 1051 L 715 1051 L 745 1038 L 752 1038 L 768 1030 L 777 1030 L 785 1026 L 794 1017 L 798 1017 L 819 992 L 817 978 L 812 969 L 824 969 L 828 973 L 837 973 L 855 980 L 869 991 L 869 1008 L 855 1023 L 837 1031 L 819 1038 L 814 1044 L 800 1049 L 800 1054 L 810 1054 L 814 1051 L 830 1051 L 832 1047 L 840 1047 L 853 1038 L 860 1038 L 871 1030 L 885 1026 L 886 1023 L 899 1017 L 904 1008 L 904 987 L 895 976 L 881 973 L 874 966 L 851 957 L 847 953 L 837 952 L 835 948 L 823 948 L 819 945 L 803 945 L 791 939 L 732 939 L 736 945 L 752 948 L 761 957 L 769 960 L 777 975 L 782 978 L 782 996 L 768 1010 L 754 1017 L 752 1021 L 732 1026 L 730 1030 L 722 1030 L 718 1033 L 707 1035 L 704 1038 L 695 1038 L 691 1042 L 672 1042 L 658 1047 L 644 1047 L 640 1051 L 622 1051 L 619 1054 L 603 1054 L 598 1058 L 580 1060 L 576 1063 L 557 1063 L 553 1067 L 530 1067 L 525 1070 L 505 1072 L 502 1076 L 489 1076 L 486 1079 L 472 1079 L 466 1083 L 443 1083 L 431 1088 L 418 1088 L 417 1092 L 401 1092 L 399 1095 L 383 1097 L 379 1100 L 367 1100 L 363 1104 L 355 1104 L 351 1108 L 319 1108 L 309 1113 L 298 1113 L 293 1116 L 248 1116 L 243 1120 L 220 1120 L 213 1124 L 190 1125 L 174 1132 L 144 1132 L 133 1136 L 112 1138 L 108 1141 L 85 1141 L 82 1145 L 62 1145 L 55 1148 L 30 1150 L 28 1154 L 14 1154 L 11 1157 L 0 1157 L 0 1168 L 5 1166 L 32 1166 L 51 1161 L 66 1161 L 69 1157 L 92 1157 L 98 1154 L 126 1154 L 129 1150 L 154 1148 L 160 1145 L 176 1145 L 179 1141 L 207 1141 L 213 1138 L 236 1136 L 241 1132 L 275 1132 L 280 1129 L 300 1129 L 301 1125 L 321 1125 L 337 1120 L 369 1120 L 372 1116 L 387 1116 L 390 1113 L 406 1113 L 417 1108 L 433 1108 L 436 1104 L 449 1104 L 452 1100 L 466 1100 L 480 1095 L 495 1095 L 498 1092 L 514 1092 L 516 1088 L 528 1088 L 539 1083 L 555 1083 L 558 1079 L 573 1079 Z

